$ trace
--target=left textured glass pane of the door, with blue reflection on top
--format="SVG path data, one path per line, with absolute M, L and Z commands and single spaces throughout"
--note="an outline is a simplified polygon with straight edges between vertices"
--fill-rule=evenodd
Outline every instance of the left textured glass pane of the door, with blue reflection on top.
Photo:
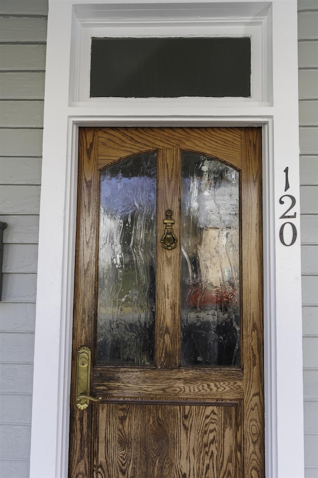
M 156 153 L 101 173 L 97 364 L 154 362 Z

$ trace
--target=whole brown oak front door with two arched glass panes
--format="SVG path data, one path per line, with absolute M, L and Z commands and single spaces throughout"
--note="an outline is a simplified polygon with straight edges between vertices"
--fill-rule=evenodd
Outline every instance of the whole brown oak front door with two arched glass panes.
M 70 477 L 264 477 L 261 174 L 260 128 L 80 128 Z

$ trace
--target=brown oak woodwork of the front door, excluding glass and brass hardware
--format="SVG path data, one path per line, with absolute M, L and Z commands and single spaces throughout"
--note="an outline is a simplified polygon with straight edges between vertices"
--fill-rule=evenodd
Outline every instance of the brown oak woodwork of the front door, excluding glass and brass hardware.
M 155 364 L 96 366 L 100 171 L 155 150 L 160 182 Z M 180 367 L 180 252 L 163 250 L 160 238 L 167 208 L 180 236 L 181 151 L 219 158 L 239 171 L 240 367 Z M 71 478 L 264 477 L 261 172 L 259 128 L 79 130 Z M 83 345 L 92 350 L 90 394 L 102 399 L 79 410 L 77 351 Z

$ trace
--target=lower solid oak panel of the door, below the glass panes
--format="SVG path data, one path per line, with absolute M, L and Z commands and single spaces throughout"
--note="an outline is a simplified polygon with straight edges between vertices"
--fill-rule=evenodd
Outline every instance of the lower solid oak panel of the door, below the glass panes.
M 236 404 L 99 406 L 101 478 L 236 477 Z

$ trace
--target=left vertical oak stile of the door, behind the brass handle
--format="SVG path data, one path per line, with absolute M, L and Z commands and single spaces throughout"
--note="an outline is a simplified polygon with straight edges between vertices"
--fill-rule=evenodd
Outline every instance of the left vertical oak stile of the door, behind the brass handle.
M 76 407 L 77 351 L 94 349 L 96 230 L 98 209 L 97 130 L 79 130 L 78 217 L 75 261 L 75 301 L 72 351 L 69 476 L 92 476 L 93 407 L 83 413 Z

